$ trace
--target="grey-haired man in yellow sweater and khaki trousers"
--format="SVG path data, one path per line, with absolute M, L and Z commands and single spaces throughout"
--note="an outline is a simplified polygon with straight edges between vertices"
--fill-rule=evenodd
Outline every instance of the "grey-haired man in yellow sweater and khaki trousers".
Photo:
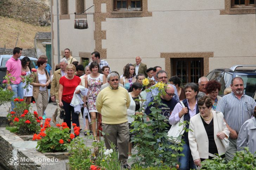
M 107 149 L 111 142 L 117 146 L 119 161 L 124 168 L 127 164 L 129 126 L 127 109 L 130 106 L 128 91 L 119 86 L 119 76 L 110 73 L 107 77 L 109 87 L 104 88 L 97 96 L 96 109 L 102 116 L 102 130 L 105 133 L 104 141 Z

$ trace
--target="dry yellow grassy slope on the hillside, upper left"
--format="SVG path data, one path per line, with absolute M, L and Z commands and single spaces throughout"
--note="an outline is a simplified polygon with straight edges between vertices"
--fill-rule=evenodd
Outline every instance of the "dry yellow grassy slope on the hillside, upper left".
M 14 48 L 19 34 L 17 47 L 34 48 L 34 37 L 37 32 L 51 32 L 51 26 L 35 26 L 0 16 L 0 47 Z

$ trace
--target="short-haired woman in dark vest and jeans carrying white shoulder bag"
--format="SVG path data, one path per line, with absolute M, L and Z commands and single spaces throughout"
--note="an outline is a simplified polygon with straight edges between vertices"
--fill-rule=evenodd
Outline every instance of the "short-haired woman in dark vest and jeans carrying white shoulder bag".
M 169 117 L 169 123 L 175 124 L 179 122 L 180 118 L 184 115 L 184 121 L 190 121 L 190 118 L 199 113 L 197 99 L 196 96 L 199 92 L 198 86 L 196 83 L 187 83 L 185 86 L 185 95 L 186 99 L 183 100 L 185 107 L 183 108 L 180 103 L 176 104 L 174 107 L 171 116 Z M 189 124 L 186 124 L 186 128 L 188 129 Z M 188 141 L 188 132 L 184 132 L 182 139 L 185 141 L 185 144 L 182 146 L 183 151 L 181 154 L 185 156 L 179 157 L 180 169 L 196 169 L 194 164 L 194 160 L 191 155 L 189 141 Z

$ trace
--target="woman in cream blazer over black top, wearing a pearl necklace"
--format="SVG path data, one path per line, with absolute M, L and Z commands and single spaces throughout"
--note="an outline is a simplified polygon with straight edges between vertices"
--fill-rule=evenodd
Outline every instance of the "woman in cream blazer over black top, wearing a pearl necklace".
M 212 109 L 212 101 L 208 96 L 197 102 L 200 113 L 190 119 L 188 140 L 194 163 L 201 166 L 204 159 L 211 159 L 214 154 L 225 156 L 226 149 L 221 142 L 229 137 L 224 116 Z M 220 132 L 219 132 L 220 129 Z

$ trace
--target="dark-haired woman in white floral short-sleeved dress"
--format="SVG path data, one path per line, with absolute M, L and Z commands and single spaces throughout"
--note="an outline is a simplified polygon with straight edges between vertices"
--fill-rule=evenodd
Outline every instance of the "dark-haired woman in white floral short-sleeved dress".
M 94 136 L 94 142 L 97 142 L 96 139 L 96 98 L 100 93 L 101 85 L 105 83 L 105 77 L 103 74 L 98 73 L 100 66 L 97 62 L 92 62 L 90 64 L 91 74 L 85 76 L 85 88 L 88 88 L 87 94 L 87 103 L 88 110 L 91 115 L 91 129 Z

